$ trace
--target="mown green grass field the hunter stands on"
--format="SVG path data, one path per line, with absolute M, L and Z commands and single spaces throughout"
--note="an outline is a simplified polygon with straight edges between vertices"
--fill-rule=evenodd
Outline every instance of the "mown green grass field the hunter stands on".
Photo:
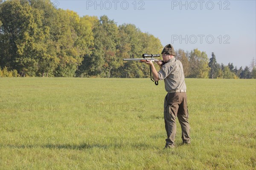
M 163 81 L 0 78 L 0 169 L 256 169 L 256 80 L 186 85 L 192 144 L 163 150 Z

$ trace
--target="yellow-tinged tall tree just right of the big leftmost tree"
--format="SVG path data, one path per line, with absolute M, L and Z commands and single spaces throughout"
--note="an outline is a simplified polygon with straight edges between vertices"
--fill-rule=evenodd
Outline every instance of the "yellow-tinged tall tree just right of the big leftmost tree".
M 62 9 L 56 11 L 52 32 L 56 42 L 56 54 L 59 62 L 54 76 L 74 77 L 78 66 L 83 60 L 84 52 L 82 49 L 85 49 L 85 47 L 81 45 L 81 39 L 78 36 L 83 28 L 77 30 L 74 28 L 74 22 L 79 22 L 79 17 L 77 17 L 76 13 Z

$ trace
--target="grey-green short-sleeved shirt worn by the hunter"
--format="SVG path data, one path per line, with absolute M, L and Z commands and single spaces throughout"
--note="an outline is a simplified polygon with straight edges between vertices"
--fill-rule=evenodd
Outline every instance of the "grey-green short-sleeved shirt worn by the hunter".
M 166 91 L 186 90 L 183 66 L 175 57 L 162 66 L 158 72 L 160 80 L 164 80 Z

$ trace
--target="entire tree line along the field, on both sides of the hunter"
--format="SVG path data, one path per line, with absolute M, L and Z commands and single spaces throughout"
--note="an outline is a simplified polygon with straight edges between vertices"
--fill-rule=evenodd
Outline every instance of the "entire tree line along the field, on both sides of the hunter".
M 148 65 L 122 59 L 162 49 L 157 37 L 105 15 L 80 17 L 50 0 L 0 0 L 1 77 L 149 77 Z M 255 63 L 250 71 L 198 49 L 176 54 L 186 77 L 256 78 Z

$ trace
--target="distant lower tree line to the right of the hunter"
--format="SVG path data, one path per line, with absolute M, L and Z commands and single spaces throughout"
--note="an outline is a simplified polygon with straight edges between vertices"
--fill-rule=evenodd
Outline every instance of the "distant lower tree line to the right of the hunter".
M 245 66 L 237 68 L 233 63 L 228 65 L 218 64 L 215 54 L 212 52 L 208 59 L 204 51 L 197 48 L 191 52 L 182 49 L 176 51 L 176 58 L 183 64 L 185 77 L 189 78 L 210 78 L 210 79 L 256 79 L 256 63 L 253 58 L 250 68 Z

